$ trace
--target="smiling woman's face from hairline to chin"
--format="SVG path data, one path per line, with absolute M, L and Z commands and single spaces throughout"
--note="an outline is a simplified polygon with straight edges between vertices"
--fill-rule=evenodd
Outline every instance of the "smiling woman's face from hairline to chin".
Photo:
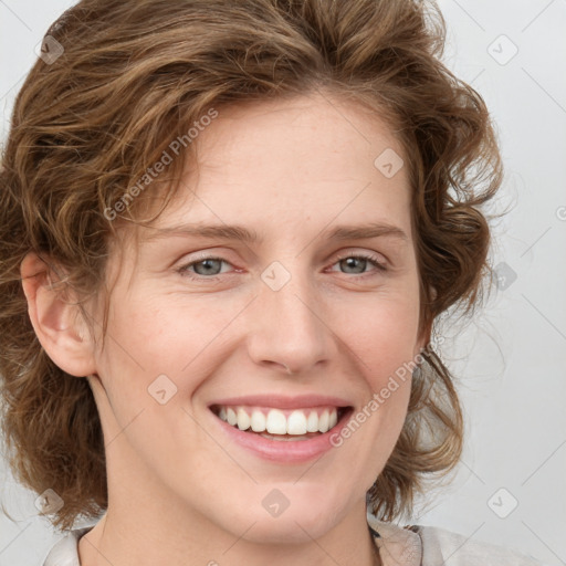
M 193 140 L 198 179 L 111 256 L 90 378 L 109 512 L 198 516 L 258 542 L 365 517 L 407 411 L 410 376 L 396 376 L 426 342 L 400 145 L 328 101 L 221 111 Z

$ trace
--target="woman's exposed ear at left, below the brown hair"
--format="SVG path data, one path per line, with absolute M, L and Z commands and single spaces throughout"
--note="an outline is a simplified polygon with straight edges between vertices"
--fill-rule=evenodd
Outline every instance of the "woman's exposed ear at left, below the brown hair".
M 96 373 L 94 343 L 73 294 L 53 289 L 59 277 L 36 253 L 25 255 L 20 274 L 31 324 L 48 356 L 72 376 Z

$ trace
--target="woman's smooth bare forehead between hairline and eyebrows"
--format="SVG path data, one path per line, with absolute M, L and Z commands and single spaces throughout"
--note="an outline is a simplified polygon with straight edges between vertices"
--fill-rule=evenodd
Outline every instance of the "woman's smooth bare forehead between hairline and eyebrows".
M 314 94 L 232 105 L 196 142 L 197 160 L 175 202 L 142 240 L 187 221 L 238 219 L 260 235 L 275 223 L 291 229 L 338 216 L 346 223 L 408 221 L 401 145 L 377 113 L 355 102 Z M 384 175 L 384 156 L 395 175 Z

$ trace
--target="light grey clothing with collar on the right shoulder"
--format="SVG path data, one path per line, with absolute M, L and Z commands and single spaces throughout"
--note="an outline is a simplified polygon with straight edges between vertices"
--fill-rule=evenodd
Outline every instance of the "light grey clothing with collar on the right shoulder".
M 368 516 L 384 566 L 544 566 L 500 545 L 476 541 L 436 526 L 399 526 Z

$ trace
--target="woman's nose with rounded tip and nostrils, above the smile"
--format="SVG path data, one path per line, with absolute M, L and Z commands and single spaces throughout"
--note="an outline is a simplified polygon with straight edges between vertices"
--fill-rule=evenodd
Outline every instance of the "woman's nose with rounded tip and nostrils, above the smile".
M 249 355 L 283 375 L 312 373 L 335 352 L 327 318 L 328 308 L 306 275 L 294 273 L 279 290 L 260 281 L 259 296 L 248 312 Z

